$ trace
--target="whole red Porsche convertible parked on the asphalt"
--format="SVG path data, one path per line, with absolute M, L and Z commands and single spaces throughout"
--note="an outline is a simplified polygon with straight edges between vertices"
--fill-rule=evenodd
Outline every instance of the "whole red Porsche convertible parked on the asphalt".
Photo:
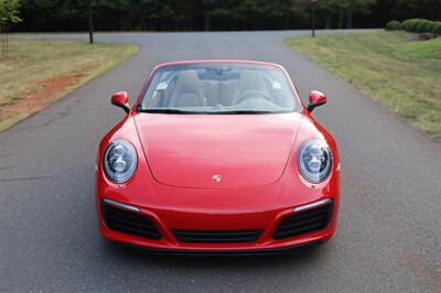
M 153 68 L 100 142 L 99 230 L 153 251 L 279 252 L 336 229 L 340 161 L 282 66 L 192 61 Z

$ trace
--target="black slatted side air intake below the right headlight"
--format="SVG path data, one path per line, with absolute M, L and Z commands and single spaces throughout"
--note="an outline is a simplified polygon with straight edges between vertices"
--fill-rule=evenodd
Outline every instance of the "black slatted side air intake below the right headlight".
M 305 211 L 289 215 L 282 219 L 275 232 L 273 239 L 283 239 L 327 227 L 332 215 L 332 202 Z

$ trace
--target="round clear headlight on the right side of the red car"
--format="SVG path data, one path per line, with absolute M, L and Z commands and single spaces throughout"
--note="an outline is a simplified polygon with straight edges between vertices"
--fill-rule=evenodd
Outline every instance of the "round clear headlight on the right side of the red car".
M 326 142 L 311 139 L 302 144 L 298 158 L 299 171 L 311 183 L 321 183 L 329 175 L 332 156 Z

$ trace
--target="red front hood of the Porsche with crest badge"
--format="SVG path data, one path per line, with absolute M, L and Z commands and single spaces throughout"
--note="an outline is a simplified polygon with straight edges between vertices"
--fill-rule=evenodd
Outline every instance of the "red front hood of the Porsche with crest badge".
M 281 177 L 302 115 L 137 113 L 133 119 L 157 181 L 237 188 Z

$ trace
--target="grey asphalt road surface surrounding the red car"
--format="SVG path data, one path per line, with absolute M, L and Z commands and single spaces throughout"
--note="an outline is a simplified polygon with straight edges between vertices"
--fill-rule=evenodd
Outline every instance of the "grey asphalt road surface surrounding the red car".
M 0 134 L 0 291 L 441 290 L 441 144 L 289 50 L 302 32 L 127 33 L 139 53 Z M 54 37 L 53 35 L 51 37 Z M 58 37 L 86 37 L 67 35 Z M 154 64 L 248 58 L 283 64 L 340 142 L 340 227 L 332 241 L 282 257 L 176 258 L 115 248 L 97 234 L 94 160 Z

